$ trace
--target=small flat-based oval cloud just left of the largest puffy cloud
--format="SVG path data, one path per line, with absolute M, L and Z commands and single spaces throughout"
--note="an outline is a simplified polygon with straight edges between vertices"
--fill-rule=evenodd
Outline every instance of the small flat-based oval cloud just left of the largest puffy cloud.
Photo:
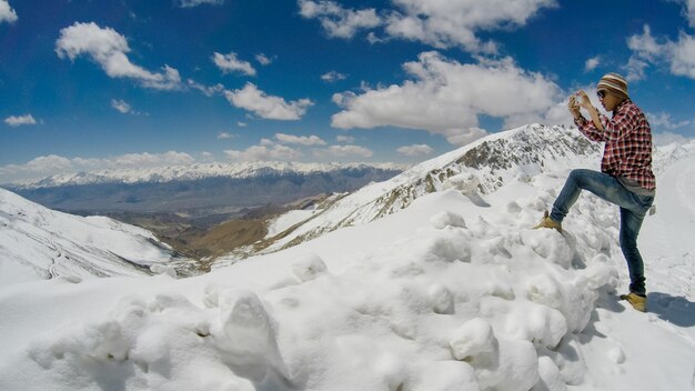
M 246 83 L 241 90 L 224 91 L 224 97 L 236 108 L 272 120 L 299 120 L 313 104 L 309 99 L 286 102 L 283 98 L 266 94 L 253 83 Z

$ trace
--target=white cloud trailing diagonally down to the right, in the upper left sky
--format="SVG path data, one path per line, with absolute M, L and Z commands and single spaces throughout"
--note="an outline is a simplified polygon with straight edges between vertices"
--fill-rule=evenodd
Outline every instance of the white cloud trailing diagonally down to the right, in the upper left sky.
M 102 29 L 94 22 L 75 22 L 60 30 L 56 52 L 61 59 L 67 57 L 72 61 L 79 56 L 87 54 L 111 78 L 134 79 L 143 87 L 157 90 L 181 88 L 178 70 L 164 66 L 160 73 L 153 73 L 133 64 L 127 56 L 130 48 L 125 37 L 111 28 Z

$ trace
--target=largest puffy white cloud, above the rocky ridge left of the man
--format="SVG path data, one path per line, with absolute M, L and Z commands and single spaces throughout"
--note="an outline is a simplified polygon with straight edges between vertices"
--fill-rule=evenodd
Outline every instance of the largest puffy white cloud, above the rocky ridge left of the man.
M 403 68 L 412 80 L 400 86 L 334 94 L 343 111 L 332 117 L 332 126 L 422 129 L 465 144 L 485 136 L 479 116 L 502 118 L 506 128 L 541 122 L 562 99 L 552 80 L 517 68 L 508 58 L 462 64 L 432 51 Z

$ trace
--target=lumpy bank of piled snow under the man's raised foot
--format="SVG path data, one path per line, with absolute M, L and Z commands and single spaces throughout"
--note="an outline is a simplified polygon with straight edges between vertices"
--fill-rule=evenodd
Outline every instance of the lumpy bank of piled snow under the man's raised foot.
M 451 194 L 417 202 L 442 198 Z M 452 210 L 430 222 L 339 271 L 305 252 L 266 288 L 215 282 L 190 285 L 188 295 L 121 297 L 102 319 L 33 339 L 29 358 L 80 389 L 511 391 L 581 382 L 573 335 L 598 297 L 588 287 L 614 272 L 601 257 L 584 270 L 572 259 L 577 248 L 596 251 L 551 230 L 466 224 Z M 177 291 L 184 280 L 161 281 Z

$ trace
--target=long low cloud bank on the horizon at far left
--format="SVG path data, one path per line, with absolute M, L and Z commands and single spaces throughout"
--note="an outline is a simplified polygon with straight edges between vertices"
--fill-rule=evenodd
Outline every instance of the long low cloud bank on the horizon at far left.
M 169 166 L 188 166 L 195 159 L 188 153 L 169 151 L 165 153 L 128 153 L 113 158 L 66 158 L 57 154 L 38 157 L 24 164 L 0 167 L 0 181 L 40 179 L 56 174 L 79 171 L 139 169 Z

